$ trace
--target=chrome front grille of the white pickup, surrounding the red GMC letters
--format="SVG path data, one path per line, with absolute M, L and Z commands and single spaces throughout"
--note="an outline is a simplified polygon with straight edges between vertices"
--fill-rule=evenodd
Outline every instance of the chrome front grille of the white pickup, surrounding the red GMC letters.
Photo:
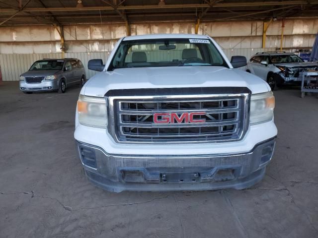
M 248 100 L 248 93 L 109 97 L 108 130 L 122 143 L 239 140 L 248 126 Z M 186 123 L 184 119 L 171 123 L 171 113 L 180 119 L 183 113 L 192 112 L 205 113 L 193 116 L 204 122 Z M 170 123 L 155 123 L 155 113 L 168 114 Z

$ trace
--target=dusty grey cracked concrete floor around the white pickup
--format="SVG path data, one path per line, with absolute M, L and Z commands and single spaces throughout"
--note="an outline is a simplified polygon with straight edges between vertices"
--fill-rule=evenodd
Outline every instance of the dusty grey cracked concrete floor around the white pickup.
M 246 190 L 111 193 L 75 156 L 79 87 L 24 95 L 0 84 L 1 238 L 318 237 L 318 98 L 275 92 L 265 178 Z

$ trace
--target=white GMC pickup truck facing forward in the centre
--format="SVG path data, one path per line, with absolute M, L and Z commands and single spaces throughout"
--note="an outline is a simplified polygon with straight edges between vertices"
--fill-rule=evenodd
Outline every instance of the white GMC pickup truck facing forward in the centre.
M 87 177 L 110 191 L 243 189 L 277 135 L 269 85 L 209 36 L 120 39 L 80 91 L 74 137 Z

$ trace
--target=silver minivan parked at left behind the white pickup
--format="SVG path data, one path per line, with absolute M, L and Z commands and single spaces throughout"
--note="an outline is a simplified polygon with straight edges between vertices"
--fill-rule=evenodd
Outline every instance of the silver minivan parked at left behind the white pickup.
M 85 69 L 78 59 L 43 59 L 35 61 L 29 71 L 20 75 L 20 90 L 23 93 L 58 91 L 65 93 L 72 84 L 86 81 Z

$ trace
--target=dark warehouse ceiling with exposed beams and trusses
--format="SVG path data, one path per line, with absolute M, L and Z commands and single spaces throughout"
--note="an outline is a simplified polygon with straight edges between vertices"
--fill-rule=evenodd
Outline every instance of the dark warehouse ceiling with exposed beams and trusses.
M 0 0 L 0 25 L 318 17 L 318 0 Z

